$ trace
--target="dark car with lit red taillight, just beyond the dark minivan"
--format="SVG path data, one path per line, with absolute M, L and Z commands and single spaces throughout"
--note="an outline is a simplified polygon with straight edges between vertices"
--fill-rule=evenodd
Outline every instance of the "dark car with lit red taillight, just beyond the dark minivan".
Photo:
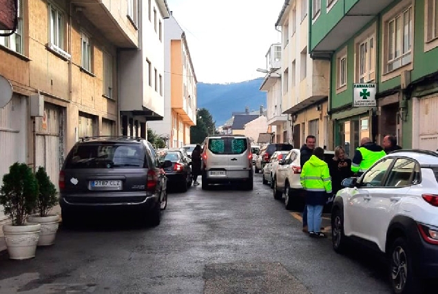
M 179 149 L 167 150 L 160 154 L 160 161 L 170 160 L 172 165 L 164 170 L 167 176 L 168 187 L 178 188 L 186 192 L 191 187 L 191 168 L 183 152 Z

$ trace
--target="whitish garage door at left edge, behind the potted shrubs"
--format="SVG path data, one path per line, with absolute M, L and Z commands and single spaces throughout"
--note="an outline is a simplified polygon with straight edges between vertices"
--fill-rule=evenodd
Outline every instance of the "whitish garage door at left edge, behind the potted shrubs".
M 14 162 L 26 162 L 26 98 L 14 96 L 0 108 L 0 186 Z M 0 220 L 5 219 L 0 205 Z

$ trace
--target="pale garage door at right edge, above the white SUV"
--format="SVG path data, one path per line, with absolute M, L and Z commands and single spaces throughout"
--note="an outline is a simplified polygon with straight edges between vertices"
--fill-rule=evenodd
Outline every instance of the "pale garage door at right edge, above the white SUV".
M 438 148 L 438 96 L 419 99 L 419 149 Z

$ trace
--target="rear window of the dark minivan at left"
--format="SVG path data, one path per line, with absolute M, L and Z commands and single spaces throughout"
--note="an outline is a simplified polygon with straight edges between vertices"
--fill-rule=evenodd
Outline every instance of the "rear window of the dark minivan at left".
M 76 145 L 65 160 L 67 169 L 146 167 L 145 149 L 141 145 Z

